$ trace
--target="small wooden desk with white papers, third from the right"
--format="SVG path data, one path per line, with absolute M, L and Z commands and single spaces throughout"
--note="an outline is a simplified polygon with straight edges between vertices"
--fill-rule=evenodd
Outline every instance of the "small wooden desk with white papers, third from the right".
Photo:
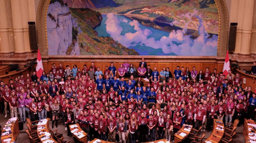
M 182 142 L 191 133 L 193 126 L 185 125 L 182 126 L 177 133 L 174 134 L 174 143 Z

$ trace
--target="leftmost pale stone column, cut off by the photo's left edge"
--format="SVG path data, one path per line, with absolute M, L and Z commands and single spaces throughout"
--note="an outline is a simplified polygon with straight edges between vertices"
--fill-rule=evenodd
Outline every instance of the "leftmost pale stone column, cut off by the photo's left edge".
M 4 0 L 0 0 L 0 53 L 10 53 L 9 32 Z

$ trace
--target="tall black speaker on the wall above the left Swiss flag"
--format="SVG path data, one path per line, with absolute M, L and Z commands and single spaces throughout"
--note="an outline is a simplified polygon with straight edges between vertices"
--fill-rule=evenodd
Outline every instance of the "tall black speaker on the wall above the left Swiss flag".
M 37 42 L 36 23 L 35 22 L 28 22 L 28 29 L 29 29 L 30 48 L 33 51 L 37 51 L 38 42 Z

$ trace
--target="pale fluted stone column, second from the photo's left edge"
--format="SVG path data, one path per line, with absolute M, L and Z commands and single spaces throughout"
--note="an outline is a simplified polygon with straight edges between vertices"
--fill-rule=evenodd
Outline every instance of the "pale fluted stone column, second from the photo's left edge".
M 11 0 L 15 53 L 25 52 L 22 7 L 20 0 Z

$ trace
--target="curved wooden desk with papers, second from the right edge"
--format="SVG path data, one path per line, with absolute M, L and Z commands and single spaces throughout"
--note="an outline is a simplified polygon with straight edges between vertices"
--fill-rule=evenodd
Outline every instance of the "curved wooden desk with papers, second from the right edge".
M 223 130 L 223 131 L 221 131 Z M 225 132 L 225 125 L 222 120 L 213 120 L 213 130 L 208 139 L 205 140 L 206 143 L 218 143 L 222 139 Z

